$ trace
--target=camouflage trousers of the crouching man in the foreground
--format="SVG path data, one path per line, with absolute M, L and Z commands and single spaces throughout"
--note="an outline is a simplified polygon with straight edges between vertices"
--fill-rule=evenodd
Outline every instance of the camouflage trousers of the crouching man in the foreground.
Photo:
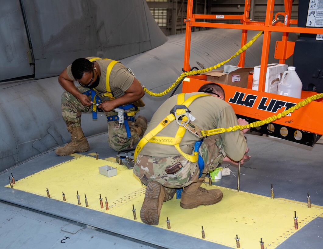
M 209 170 L 213 170 L 219 163 L 222 163 L 223 155 L 220 149 L 222 149 L 220 135 L 204 138 L 199 149 L 199 153 L 204 160 L 204 170 L 200 179 L 204 179 Z M 180 162 L 183 168 L 173 175 L 168 175 L 165 172 L 165 168 L 177 162 Z M 200 170 L 197 162 L 190 162 L 181 155 L 152 157 L 139 154 L 133 168 L 133 173 L 145 185 L 150 181 L 157 181 L 167 188 L 181 188 L 197 182 Z

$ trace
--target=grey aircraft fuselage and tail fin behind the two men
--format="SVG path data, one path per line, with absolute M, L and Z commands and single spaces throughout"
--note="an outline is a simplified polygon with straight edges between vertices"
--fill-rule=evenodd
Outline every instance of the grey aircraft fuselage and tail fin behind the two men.
M 0 172 L 70 141 L 60 110 L 64 89 L 57 79 L 75 59 L 118 60 L 153 92 L 164 91 L 182 73 L 185 35 L 166 37 L 145 0 L 14 0 L 2 5 Z M 256 33 L 249 32 L 248 39 Z M 193 32 L 190 65 L 201 69 L 228 59 L 240 48 L 240 37 L 239 30 Z M 246 67 L 260 64 L 261 40 L 247 50 Z M 228 62 L 237 63 L 238 58 Z M 146 93 L 140 114 L 150 120 L 169 96 Z M 93 121 L 91 114 L 82 115 L 85 136 L 107 131 L 105 116 L 98 116 Z

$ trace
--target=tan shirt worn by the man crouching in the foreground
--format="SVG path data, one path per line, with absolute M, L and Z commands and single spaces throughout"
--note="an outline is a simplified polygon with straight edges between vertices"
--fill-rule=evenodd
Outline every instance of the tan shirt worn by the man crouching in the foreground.
M 185 100 L 195 94 L 200 93 L 185 93 Z M 148 131 L 155 128 L 170 113 L 170 110 L 172 110 L 176 104 L 177 95 L 174 95 L 166 100 L 151 118 L 145 135 Z M 191 111 L 191 115 L 193 115 L 193 117 L 196 119 L 193 121 L 193 123 L 199 126 L 202 130 L 228 128 L 238 124 L 232 107 L 227 102 L 214 96 L 199 97 L 192 102 L 188 109 Z M 156 136 L 175 137 L 177 129 L 178 124 L 174 120 L 164 129 L 162 129 L 161 132 L 159 132 Z M 226 154 L 235 161 L 242 159 L 247 148 L 245 137 L 242 131 L 236 130 L 224 132 L 214 136 L 220 136 L 220 138 L 223 139 L 224 156 Z M 194 143 L 197 140 L 200 139 L 186 131 L 180 143 L 182 151 L 186 154 L 192 154 L 194 150 Z M 140 154 L 155 157 L 180 155 L 173 145 L 161 145 L 150 142 L 143 147 Z

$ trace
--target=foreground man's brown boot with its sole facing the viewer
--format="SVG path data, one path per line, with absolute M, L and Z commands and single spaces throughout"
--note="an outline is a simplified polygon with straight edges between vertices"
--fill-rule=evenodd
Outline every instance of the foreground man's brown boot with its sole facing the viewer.
M 158 182 L 147 184 L 145 199 L 140 210 L 140 218 L 148 225 L 158 225 L 161 206 L 165 198 L 165 187 Z

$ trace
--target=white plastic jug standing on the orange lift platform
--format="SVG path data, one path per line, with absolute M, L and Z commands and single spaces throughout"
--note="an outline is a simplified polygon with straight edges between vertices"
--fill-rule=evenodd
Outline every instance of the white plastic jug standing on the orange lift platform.
M 300 98 L 302 93 L 302 81 L 299 79 L 295 67 L 288 67 L 282 75 L 281 81 L 278 83 L 279 95 Z

